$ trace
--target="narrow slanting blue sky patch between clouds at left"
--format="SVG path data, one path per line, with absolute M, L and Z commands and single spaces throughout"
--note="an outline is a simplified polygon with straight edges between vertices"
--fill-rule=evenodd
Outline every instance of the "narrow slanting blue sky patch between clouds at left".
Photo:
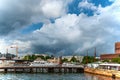
M 43 26 L 43 23 L 36 23 L 36 24 L 31 24 L 30 26 L 23 28 L 20 33 L 22 34 L 28 34 L 31 33 L 37 29 L 40 29 Z

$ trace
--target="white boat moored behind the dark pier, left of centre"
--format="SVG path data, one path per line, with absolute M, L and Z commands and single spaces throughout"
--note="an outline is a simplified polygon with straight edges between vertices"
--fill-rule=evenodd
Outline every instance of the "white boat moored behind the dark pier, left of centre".
M 34 61 L 31 62 L 30 66 L 57 66 L 57 63 L 50 63 L 47 61 Z

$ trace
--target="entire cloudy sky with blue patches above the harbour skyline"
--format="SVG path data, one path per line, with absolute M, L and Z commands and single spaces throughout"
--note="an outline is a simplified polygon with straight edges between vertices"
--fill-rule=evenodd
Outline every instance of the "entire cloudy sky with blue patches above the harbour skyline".
M 114 53 L 120 0 L 0 0 L 0 52 L 20 55 Z

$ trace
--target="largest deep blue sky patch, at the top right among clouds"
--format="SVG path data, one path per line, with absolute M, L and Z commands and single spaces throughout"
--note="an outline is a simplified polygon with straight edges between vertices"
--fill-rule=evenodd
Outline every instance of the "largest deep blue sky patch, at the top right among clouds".
M 94 10 L 78 7 L 81 1 L 83 0 L 73 0 L 73 2 L 68 6 L 68 13 L 77 15 L 79 15 L 80 13 L 85 13 L 88 16 L 92 16 L 94 14 Z M 113 3 L 110 2 L 109 0 L 87 0 L 87 1 L 89 3 L 93 3 L 95 6 L 101 5 L 102 7 L 109 6 Z

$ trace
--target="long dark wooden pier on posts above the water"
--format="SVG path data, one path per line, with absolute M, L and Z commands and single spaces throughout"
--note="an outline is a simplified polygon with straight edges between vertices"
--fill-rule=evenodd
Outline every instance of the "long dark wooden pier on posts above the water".
M 82 67 L 61 67 L 61 66 L 45 66 L 45 67 L 33 67 L 33 66 L 12 66 L 12 67 L 0 67 L 1 72 L 21 72 L 21 73 L 83 73 Z

